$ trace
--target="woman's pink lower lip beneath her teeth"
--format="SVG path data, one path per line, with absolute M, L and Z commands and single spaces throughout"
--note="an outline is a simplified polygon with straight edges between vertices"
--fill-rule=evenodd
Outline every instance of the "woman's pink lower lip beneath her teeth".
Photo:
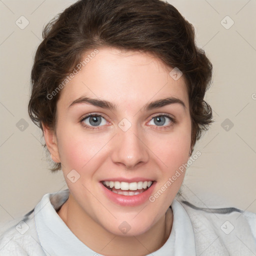
M 136 206 L 148 200 L 156 182 L 154 181 L 152 185 L 149 188 L 147 188 L 144 192 L 135 195 L 116 194 L 111 190 L 107 189 L 101 182 L 99 183 L 103 189 L 103 192 L 114 203 L 117 203 L 122 206 Z

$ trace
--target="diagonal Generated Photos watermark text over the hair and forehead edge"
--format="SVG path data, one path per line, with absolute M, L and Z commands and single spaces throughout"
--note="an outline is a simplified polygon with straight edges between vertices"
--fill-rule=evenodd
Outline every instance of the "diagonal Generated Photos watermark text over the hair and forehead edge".
M 78 74 L 79 70 L 81 70 L 81 68 L 85 65 L 87 65 L 87 63 L 96 56 L 96 54 L 98 53 L 98 49 L 94 49 L 90 54 L 88 54 L 83 61 L 80 61 L 74 68 L 73 71 L 66 76 L 66 78 L 51 92 L 47 94 L 47 99 L 52 99 L 54 96 L 56 96 L 58 94 L 58 92 L 63 89 L 66 84 L 72 80 L 72 78 L 74 78 L 74 76 L 76 74 Z

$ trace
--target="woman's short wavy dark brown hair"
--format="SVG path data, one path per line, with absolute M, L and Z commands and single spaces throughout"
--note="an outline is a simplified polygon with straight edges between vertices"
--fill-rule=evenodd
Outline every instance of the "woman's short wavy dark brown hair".
M 192 150 L 213 122 L 211 107 L 203 100 L 211 81 L 211 62 L 195 45 L 193 26 L 171 4 L 161 0 L 79 0 L 51 20 L 42 36 L 31 71 L 28 104 L 30 118 L 41 129 L 42 122 L 53 130 L 55 127 L 60 93 L 50 99 L 48 95 L 53 95 L 84 52 L 104 46 L 149 52 L 182 71 L 189 97 Z M 55 163 L 51 170 L 60 167 Z

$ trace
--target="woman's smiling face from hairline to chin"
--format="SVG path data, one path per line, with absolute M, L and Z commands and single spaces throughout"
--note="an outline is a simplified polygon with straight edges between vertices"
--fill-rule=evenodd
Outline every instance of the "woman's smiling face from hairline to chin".
M 164 216 L 181 186 L 188 95 L 183 76 L 174 80 L 152 55 L 98 51 L 61 90 L 54 144 L 46 143 L 80 212 L 113 234 L 129 226 L 137 235 Z

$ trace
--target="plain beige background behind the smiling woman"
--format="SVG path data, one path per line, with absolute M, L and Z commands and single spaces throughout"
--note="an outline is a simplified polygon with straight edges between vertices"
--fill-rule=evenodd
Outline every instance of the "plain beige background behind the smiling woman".
M 40 130 L 27 114 L 32 58 L 43 25 L 71 0 L 0 0 L 0 220 L 31 210 L 47 192 L 66 188 L 50 173 Z M 169 0 L 196 29 L 214 66 L 206 101 L 215 123 L 197 142 L 201 156 L 187 169 L 184 187 L 205 207 L 236 206 L 256 212 L 255 0 Z M 226 29 L 228 15 L 234 24 Z M 29 24 L 20 29 L 19 18 Z M 225 26 L 231 20 L 224 18 Z M 253 94 L 254 93 L 254 94 Z M 23 118 L 28 127 L 16 123 Z M 223 121 L 228 118 L 230 124 Z M 221 126 L 222 124 L 222 126 Z

